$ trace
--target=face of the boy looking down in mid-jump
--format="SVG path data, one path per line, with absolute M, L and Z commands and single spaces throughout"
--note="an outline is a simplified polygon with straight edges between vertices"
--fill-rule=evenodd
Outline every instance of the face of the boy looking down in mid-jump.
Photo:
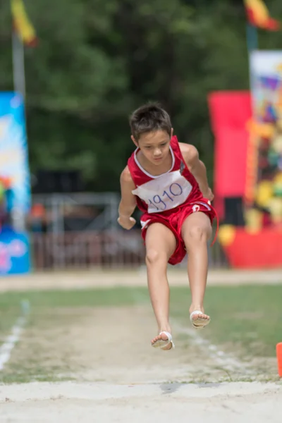
M 131 139 L 140 148 L 145 158 L 150 163 L 158 166 L 164 163 L 164 160 L 168 156 L 172 134 L 173 130 L 171 130 L 171 136 L 164 130 L 156 130 L 140 135 L 138 141 L 133 136 L 131 136 Z

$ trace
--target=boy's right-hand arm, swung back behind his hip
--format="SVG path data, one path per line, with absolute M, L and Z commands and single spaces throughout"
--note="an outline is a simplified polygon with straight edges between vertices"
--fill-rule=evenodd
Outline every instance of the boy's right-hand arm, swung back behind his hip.
M 209 201 L 214 200 L 214 194 L 211 188 L 209 188 L 209 182 L 207 180 L 206 166 L 204 166 L 204 163 L 199 159 L 199 153 L 196 147 L 194 147 L 194 145 L 184 144 L 183 142 L 180 142 L 179 146 L 188 169 L 199 184 L 202 195 Z

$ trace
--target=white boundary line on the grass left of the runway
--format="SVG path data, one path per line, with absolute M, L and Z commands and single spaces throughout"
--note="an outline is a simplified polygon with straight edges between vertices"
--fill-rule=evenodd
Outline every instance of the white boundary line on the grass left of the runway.
M 11 330 L 11 334 L 6 337 L 4 343 L 0 346 L 0 372 L 4 369 L 8 360 L 10 360 L 13 348 L 20 339 L 20 335 L 27 322 L 27 315 L 30 312 L 30 303 L 28 301 L 22 301 L 20 305 L 22 308 L 22 315 L 16 320 Z

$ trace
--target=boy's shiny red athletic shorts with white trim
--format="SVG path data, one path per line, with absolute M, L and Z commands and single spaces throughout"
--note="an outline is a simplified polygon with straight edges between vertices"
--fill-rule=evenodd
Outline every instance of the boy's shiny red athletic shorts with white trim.
M 192 202 L 189 204 L 181 204 L 180 206 L 176 207 L 176 209 L 171 209 L 168 212 L 163 213 L 144 213 L 140 219 L 142 225 L 142 238 L 145 241 L 147 228 L 152 223 L 162 223 L 176 237 L 176 250 L 171 255 L 168 263 L 170 264 L 178 264 L 182 262 L 186 255 L 186 248 L 181 236 L 181 228 L 185 219 L 190 216 L 190 214 L 195 212 L 202 212 L 207 214 L 211 223 L 216 216 L 216 211 L 214 207 L 207 202 L 207 200 L 202 199 L 199 202 Z

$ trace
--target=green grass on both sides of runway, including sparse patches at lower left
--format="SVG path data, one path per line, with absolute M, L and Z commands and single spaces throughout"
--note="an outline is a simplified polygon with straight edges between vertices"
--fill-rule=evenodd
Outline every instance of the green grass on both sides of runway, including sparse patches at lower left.
M 212 317 L 212 324 L 199 334 L 241 359 L 249 356 L 274 357 L 276 343 L 282 342 L 281 299 L 282 284 L 209 287 L 205 298 L 205 309 Z M 28 359 L 25 360 L 24 368 L 19 362 L 12 362 L 5 372 L 0 373 L 2 383 L 71 379 L 67 357 L 62 367 L 54 366 L 48 372 L 44 372 L 44 366 L 42 367 L 42 362 L 38 358 L 42 345 L 37 344 L 36 339 L 32 339 L 32 331 L 37 330 L 38 333 L 39 328 L 44 336 L 48 336 L 48 333 L 50 336 L 53 329 L 61 328 L 62 331 L 68 331 L 73 321 L 78 321 L 87 313 L 87 309 L 84 312 L 83 307 L 149 305 L 147 288 L 117 287 L 3 293 L 0 295 L 0 343 L 20 316 L 22 300 L 28 300 L 31 307 L 27 322 L 30 352 L 26 347 L 24 353 Z M 182 326 L 190 327 L 189 305 L 188 288 L 171 289 L 171 317 Z M 72 316 L 71 309 L 78 307 L 79 312 Z M 63 314 L 63 309 L 68 309 L 68 312 Z

